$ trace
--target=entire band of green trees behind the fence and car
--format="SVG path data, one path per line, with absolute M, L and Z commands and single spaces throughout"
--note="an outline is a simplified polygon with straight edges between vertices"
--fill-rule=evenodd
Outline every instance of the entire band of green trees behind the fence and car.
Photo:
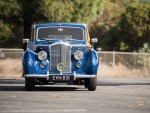
M 0 0 L 0 48 L 21 48 L 34 22 L 86 23 L 102 50 L 137 51 L 150 44 L 146 0 Z

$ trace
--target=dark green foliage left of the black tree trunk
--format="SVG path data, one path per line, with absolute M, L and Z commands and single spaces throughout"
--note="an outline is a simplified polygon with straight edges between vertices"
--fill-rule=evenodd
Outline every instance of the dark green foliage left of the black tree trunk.
M 0 48 L 22 45 L 22 9 L 20 0 L 0 1 Z M 16 45 L 17 43 L 17 45 Z

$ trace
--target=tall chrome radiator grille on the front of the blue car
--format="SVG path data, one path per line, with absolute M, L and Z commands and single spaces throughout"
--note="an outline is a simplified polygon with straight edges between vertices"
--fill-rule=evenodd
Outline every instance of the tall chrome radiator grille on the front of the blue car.
M 59 72 L 57 64 L 63 63 L 65 70 L 71 72 L 71 46 L 66 44 L 55 44 L 50 46 L 50 71 Z

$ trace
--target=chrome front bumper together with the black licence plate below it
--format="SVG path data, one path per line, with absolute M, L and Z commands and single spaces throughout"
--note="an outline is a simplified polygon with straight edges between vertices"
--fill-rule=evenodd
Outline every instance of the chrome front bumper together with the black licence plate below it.
M 57 80 L 71 80 L 75 81 L 76 79 L 85 79 L 85 78 L 95 78 L 97 75 L 77 75 L 75 72 L 73 74 L 51 74 L 47 72 L 47 74 L 26 74 L 25 77 L 27 78 L 45 78 L 46 80 L 52 80 L 52 81 L 57 81 Z

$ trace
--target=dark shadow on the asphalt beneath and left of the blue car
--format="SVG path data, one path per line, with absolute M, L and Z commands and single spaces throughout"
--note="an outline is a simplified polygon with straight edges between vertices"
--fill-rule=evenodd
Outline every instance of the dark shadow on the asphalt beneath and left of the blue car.
M 36 85 L 33 91 L 86 91 L 84 87 L 72 85 Z M 0 79 L 0 91 L 25 91 L 24 79 Z M 88 90 L 87 90 L 88 91 Z

